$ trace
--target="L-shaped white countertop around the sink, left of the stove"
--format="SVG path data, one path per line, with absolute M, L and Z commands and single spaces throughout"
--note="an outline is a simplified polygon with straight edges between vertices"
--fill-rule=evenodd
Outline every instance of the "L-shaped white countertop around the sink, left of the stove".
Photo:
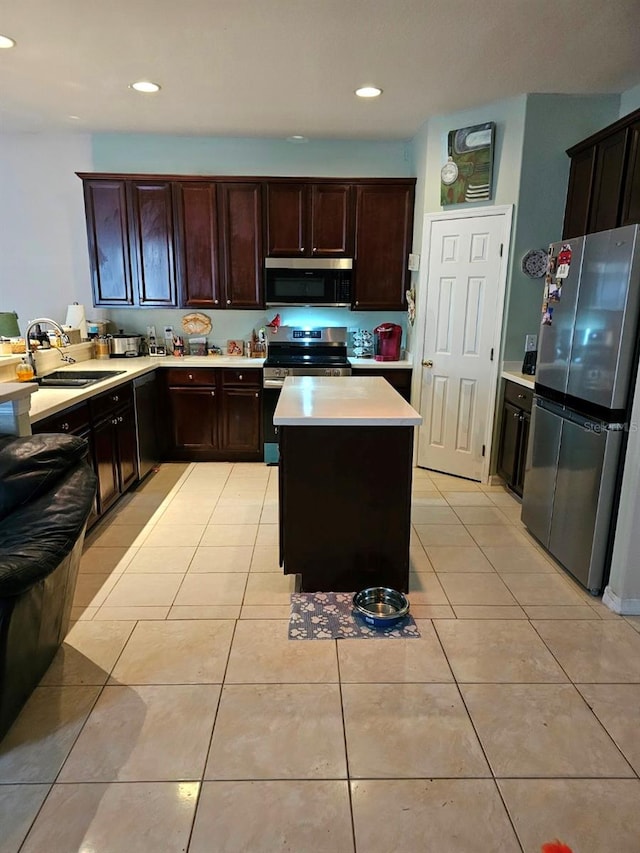
M 95 397 L 102 391 L 108 391 L 110 388 L 115 388 L 122 385 L 123 382 L 129 382 L 138 376 L 143 376 L 145 373 L 150 373 L 156 368 L 166 369 L 169 367 L 241 367 L 241 368 L 258 368 L 262 369 L 262 358 L 239 358 L 237 356 L 183 356 L 176 358 L 174 356 L 166 356 L 164 358 L 155 358 L 152 356 L 139 356 L 138 358 L 109 358 L 101 359 L 94 358 L 89 361 L 79 361 L 76 364 L 60 365 L 59 370 L 64 370 L 65 373 L 72 373 L 74 370 L 122 370 L 118 376 L 112 376 L 108 379 L 103 379 L 101 382 L 96 382 L 93 385 L 87 385 L 84 388 L 43 388 L 38 385 L 31 384 L 37 393 L 31 397 L 31 408 L 29 416 L 32 423 L 42 420 L 43 418 L 55 415 L 63 411 L 69 406 L 74 406 L 76 403 L 82 403 L 90 397 Z M 0 388 L 5 383 L 0 383 Z

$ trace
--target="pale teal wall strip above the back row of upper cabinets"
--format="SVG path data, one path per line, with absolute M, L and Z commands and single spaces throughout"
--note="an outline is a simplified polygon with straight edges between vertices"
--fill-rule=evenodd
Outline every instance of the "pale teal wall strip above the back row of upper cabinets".
M 312 177 L 410 177 L 411 147 L 405 142 L 232 139 L 152 134 L 93 137 L 96 172 L 184 175 L 277 175 Z

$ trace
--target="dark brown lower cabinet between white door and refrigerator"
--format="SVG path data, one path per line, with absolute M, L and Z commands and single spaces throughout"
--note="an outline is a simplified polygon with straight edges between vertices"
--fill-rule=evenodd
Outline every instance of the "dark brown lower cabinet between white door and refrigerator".
M 505 382 L 502 426 L 498 447 L 498 474 L 522 497 L 529 443 L 533 391 L 515 382 Z

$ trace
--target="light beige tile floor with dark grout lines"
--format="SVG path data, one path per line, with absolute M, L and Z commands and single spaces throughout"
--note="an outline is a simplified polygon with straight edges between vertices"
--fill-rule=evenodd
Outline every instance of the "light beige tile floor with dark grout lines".
M 417 470 L 421 638 L 290 642 L 276 486 L 163 465 L 87 537 L 0 744 L 0 853 L 638 853 L 640 619 L 504 489 Z

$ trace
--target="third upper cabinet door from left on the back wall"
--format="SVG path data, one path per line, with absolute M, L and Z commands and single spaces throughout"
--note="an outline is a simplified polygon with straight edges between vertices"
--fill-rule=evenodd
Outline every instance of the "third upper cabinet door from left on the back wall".
M 216 184 L 176 182 L 173 194 L 180 304 L 185 308 L 221 308 Z

